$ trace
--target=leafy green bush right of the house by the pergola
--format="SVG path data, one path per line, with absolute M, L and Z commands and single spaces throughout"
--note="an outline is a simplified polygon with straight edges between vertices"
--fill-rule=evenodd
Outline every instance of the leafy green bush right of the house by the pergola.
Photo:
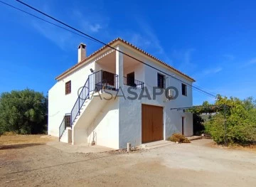
M 213 137 L 217 144 L 250 144 L 256 140 L 256 107 L 252 98 L 239 100 L 231 97 L 218 97 L 218 105 L 228 105 L 224 111 L 217 112 L 210 121 L 206 122 L 206 133 Z M 226 124 L 225 124 L 226 116 Z

